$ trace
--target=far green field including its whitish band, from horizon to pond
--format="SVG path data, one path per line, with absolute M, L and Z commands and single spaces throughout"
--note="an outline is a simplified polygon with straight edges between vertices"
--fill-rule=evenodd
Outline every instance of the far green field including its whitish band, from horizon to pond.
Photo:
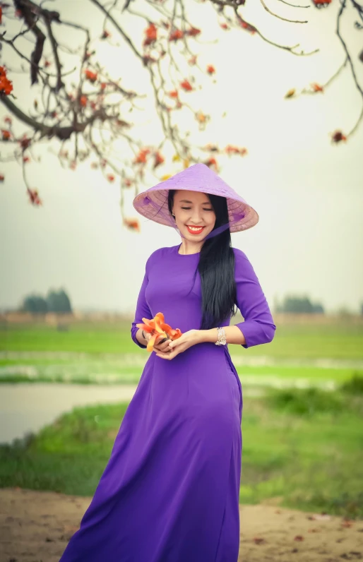
M 78 323 L 68 332 L 3 326 L 0 382 L 138 383 L 148 352 L 131 340 L 130 328 L 125 322 Z M 229 349 L 245 385 L 339 383 L 363 370 L 363 323 L 278 325 L 269 344 Z

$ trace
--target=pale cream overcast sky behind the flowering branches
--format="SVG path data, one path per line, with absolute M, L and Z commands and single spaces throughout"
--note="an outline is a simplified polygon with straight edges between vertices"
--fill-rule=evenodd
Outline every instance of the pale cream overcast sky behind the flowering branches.
M 64 1 L 61 13 L 67 19 L 84 20 L 83 4 L 90 25 L 100 29 L 102 18 L 85 0 L 77 4 L 77 13 L 73 1 Z M 292 87 L 324 83 L 343 62 L 334 35 L 339 7 L 335 4 L 329 10 L 294 11 L 274 3 L 273 9 L 285 17 L 310 18 L 305 25 L 276 20 L 262 8 L 251 13 L 264 35 L 283 44 L 299 42 L 306 50 L 320 48 L 307 57 L 271 47 L 242 30 L 223 32 L 207 2 L 188 4 L 189 19 L 203 30 L 195 49 L 201 53 L 201 67 L 215 66 L 216 83 L 197 74 L 203 90 L 188 98 L 196 109 L 211 114 L 206 131 L 198 133 L 186 117 L 183 123 L 194 127 L 191 140 L 198 145 L 232 143 L 249 150 L 244 158 L 220 158 L 220 176 L 260 217 L 255 227 L 232 234 L 232 246 L 249 257 L 271 307 L 286 294 L 308 295 L 332 312 L 342 306 L 358 311 L 363 302 L 363 122 L 345 145 L 330 142 L 335 129 L 352 128 L 362 100 L 347 68 L 323 95 L 284 99 Z M 142 4 L 136 1 L 133 6 L 140 10 Z M 353 20 L 347 13 L 343 32 L 362 85 L 363 65 L 357 58 L 362 33 L 353 28 Z M 130 35 L 142 37 L 144 22 L 126 24 Z M 113 32 L 111 25 L 109 30 Z M 3 57 L 8 66 L 20 68 L 8 50 Z M 110 73 L 123 77 L 123 84 L 150 93 L 145 69 L 138 68 L 124 44 L 108 51 L 102 44 L 100 58 Z M 36 87 L 29 96 L 28 80 L 20 73 L 11 78 L 18 100 L 31 107 Z M 148 112 L 133 119 L 139 119 L 138 130 L 146 143 L 155 138 L 159 142 L 151 96 L 145 107 Z M 6 114 L 0 104 L 2 124 Z M 18 125 L 17 131 L 23 130 Z M 42 162 L 27 167 L 30 185 L 40 191 L 44 203 L 40 208 L 28 203 L 20 167 L 0 164 L 0 173 L 6 176 L 0 184 L 0 309 L 18 306 L 26 294 L 45 296 L 50 288 L 63 287 L 73 309 L 133 313 L 145 261 L 155 249 L 179 244 L 179 234 L 138 215 L 132 191 L 126 208 L 130 217 L 140 219 L 141 232 L 127 230 L 121 225 L 116 182 L 109 184 L 98 170 L 91 170 L 92 158 L 76 171 L 63 169 L 50 148 L 35 150 Z M 57 150 L 56 143 L 52 150 Z M 173 152 L 165 155 L 171 157 Z M 163 165 L 143 189 L 179 169 Z

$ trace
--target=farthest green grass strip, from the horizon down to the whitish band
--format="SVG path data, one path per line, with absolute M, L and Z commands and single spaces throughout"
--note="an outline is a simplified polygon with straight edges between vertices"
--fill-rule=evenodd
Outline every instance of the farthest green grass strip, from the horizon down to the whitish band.
M 231 325 L 239 319 L 231 319 Z M 69 331 L 59 332 L 44 324 L 8 324 L 0 330 L 0 351 L 62 351 L 91 354 L 145 354 L 130 335 L 131 322 L 75 323 Z M 230 345 L 236 357 L 268 355 L 275 359 L 330 359 L 363 360 L 363 323 L 342 319 L 339 325 L 314 323 L 277 325 L 275 338 L 266 345 L 249 349 Z

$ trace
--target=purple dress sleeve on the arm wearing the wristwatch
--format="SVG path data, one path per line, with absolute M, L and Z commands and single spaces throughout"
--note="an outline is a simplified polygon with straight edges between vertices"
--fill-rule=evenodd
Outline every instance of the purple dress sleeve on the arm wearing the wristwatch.
M 234 249 L 234 255 L 236 304 L 244 317 L 244 322 L 235 325 L 241 330 L 246 340 L 246 344 L 241 345 L 247 348 L 269 343 L 273 340 L 276 326 L 273 323 L 268 302 L 249 258 L 239 249 Z

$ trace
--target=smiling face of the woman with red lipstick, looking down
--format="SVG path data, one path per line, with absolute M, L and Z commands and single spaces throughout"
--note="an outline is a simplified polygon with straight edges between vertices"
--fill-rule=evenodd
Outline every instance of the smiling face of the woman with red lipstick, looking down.
M 172 212 L 179 231 L 190 241 L 203 241 L 215 225 L 215 212 L 207 193 L 179 189 L 174 193 Z

